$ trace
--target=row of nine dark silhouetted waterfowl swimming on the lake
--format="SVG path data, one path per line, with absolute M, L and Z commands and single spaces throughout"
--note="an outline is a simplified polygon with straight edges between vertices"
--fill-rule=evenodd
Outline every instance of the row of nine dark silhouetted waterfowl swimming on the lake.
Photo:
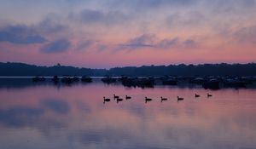
M 200 97 L 200 95 L 197 95 L 197 94 L 195 94 L 195 98 L 199 98 Z M 209 98 L 209 97 L 212 97 L 212 95 L 210 95 L 210 94 L 207 94 L 207 97 Z M 105 96 L 103 97 L 103 100 L 104 100 L 104 104 L 105 104 L 105 102 L 109 102 L 109 101 L 111 101 L 111 99 L 110 98 L 106 98 Z M 122 98 L 120 98 L 118 95 L 113 95 L 113 100 L 116 100 L 116 102 L 117 103 L 119 103 L 120 101 L 122 101 L 122 100 L 124 100 L 124 99 L 122 99 Z M 125 100 L 131 100 L 131 96 L 128 96 L 128 95 L 125 95 Z M 151 98 L 148 98 L 148 97 L 145 97 L 145 102 L 147 103 L 148 101 L 151 101 L 152 99 Z M 167 98 L 164 98 L 164 97 L 160 97 L 160 102 L 163 102 L 163 101 L 165 101 L 165 100 L 168 100 Z M 179 97 L 179 96 L 177 96 L 177 101 L 179 101 L 179 100 L 184 100 L 182 97 Z

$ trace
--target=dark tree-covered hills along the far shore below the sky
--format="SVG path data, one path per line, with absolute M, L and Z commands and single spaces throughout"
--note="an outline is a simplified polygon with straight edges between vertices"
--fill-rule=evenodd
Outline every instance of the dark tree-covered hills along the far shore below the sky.
M 35 66 L 24 63 L 0 62 L 0 76 L 256 76 L 256 64 L 202 64 L 170 66 L 127 66 L 107 69 L 74 66 Z

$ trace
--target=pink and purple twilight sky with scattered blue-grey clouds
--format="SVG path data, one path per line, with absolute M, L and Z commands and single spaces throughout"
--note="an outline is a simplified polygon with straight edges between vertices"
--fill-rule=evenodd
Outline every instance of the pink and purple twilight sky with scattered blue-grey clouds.
M 255 62 L 256 0 L 0 0 L 0 61 Z

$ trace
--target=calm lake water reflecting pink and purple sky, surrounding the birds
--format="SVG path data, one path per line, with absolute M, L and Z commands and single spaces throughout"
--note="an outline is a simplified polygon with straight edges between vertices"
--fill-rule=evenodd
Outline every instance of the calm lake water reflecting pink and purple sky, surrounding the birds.
M 6 84 L 0 85 L 0 149 L 256 148 L 256 89 Z M 103 104 L 113 94 L 132 99 Z M 153 101 L 146 104 L 145 96 Z M 169 100 L 161 103 L 160 96 Z

